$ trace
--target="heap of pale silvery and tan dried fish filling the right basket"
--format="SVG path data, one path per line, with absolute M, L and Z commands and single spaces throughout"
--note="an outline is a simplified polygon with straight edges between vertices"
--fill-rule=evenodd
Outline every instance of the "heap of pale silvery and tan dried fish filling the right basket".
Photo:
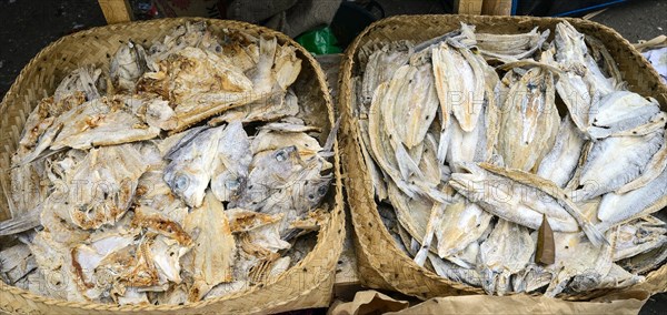
M 357 55 L 385 224 L 417 264 L 488 294 L 625 287 L 667 258 L 667 114 L 595 38 L 548 35 L 462 24 Z

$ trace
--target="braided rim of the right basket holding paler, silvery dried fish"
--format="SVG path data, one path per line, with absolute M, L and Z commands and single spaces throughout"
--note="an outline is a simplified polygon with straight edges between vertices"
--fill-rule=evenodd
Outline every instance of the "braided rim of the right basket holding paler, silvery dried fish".
M 406 20 L 444 20 L 444 19 L 450 19 L 450 20 L 457 20 L 459 22 L 467 22 L 467 23 L 475 23 L 475 20 L 477 21 L 492 21 L 492 22 L 505 22 L 505 23 L 512 23 L 512 22 L 519 22 L 519 21 L 535 21 L 535 20 L 540 20 L 540 21 L 546 21 L 546 22 L 550 22 L 552 24 L 556 24 L 557 22 L 561 22 L 561 21 L 568 21 L 570 22 L 573 26 L 580 27 L 580 26 L 589 26 L 591 28 L 597 28 L 603 32 L 606 32 L 610 35 L 613 35 L 615 38 L 615 40 L 617 40 L 617 44 L 620 45 L 625 45 L 625 47 L 629 47 L 630 48 L 630 52 L 631 54 L 634 54 L 635 57 L 639 57 L 645 64 L 648 64 L 648 61 L 641 55 L 641 53 L 639 53 L 631 44 L 630 42 L 623 38 L 616 30 L 604 26 L 601 23 L 595 22 L 595 21 L 590 21 L 590 20 L 584 20 L 584 19 L 579 19 L 579 18 L 550 18 L 550 17 L 517 17 L 517 16 L 475 16 L 475 14 L 400 14 L 400 16 L 392 16 L 389 18 L 385 18 L 381 20 L 378 20 L 374 23 L 371 23 L 370 26 L 368 26 L 366 29 L 364 29 L 364 31 L 361 31 L 356 38 L 355 40 L 350 43 L 350 45 L 346 49 L 345 51 L 345 55 L 344 55 L 344 60 L 342 63 L 340 65 L 340 74 L 339 74 L 339 79 L 338 81 L 341 82 L 340 84 L 340 91 L 339 91 L 339 105 L 340 105 L 340 110 L 344 111 L 344 114 L 348 116 L 349 119 L 349 124 L 350 124 L 350 133 L 351 134 L 346 134 L 346 136 L 349 136 L 351 139 L 354 139 L 352 143 L 349 143 L 348 146 L 350 146 L 349 149 L 346 150 L 355 150 L 358 151 L 360 150 L 359 148 L 357 148 L 358 145 L 361 145 L 361 140 L 358 139 L 357 135 L 357 125 L 354 125 L 357 121 L 357 116 L 354 115 L 354 109 L 351 108 L 351 98 L 354 95 L 351 95 L 350 93 L 350 82 L 352 79 L 352 74 L 354 74 L 354 70 L 357 67 L 357 53 L 359 52 L 359 49 L 362 47 L 362 44 L 366 43 L 367 41 L 367 37 L 372 33 L 374 31 L 376 31 L 377 29 L 380 28 L 387 28 L 387 27 L 391 27 L 395 22 L 404 22 Z M 394 27 L 396 27 L 394 24 Z M 658 78 L 658 73 L 657 71 L 651 68 L 651 67 L 645 67 L 647 68 L 648 72 L 650 73 L 651 77 L 654 77 L 654 79 L 657 82 L 661 82 Z M 660 83 L 659 83 L 660 84 Z M 661 83 L 661 93 L 660 95 L 663 95 L 664 100 L 667 102 L 667 84 Z M 345 90 L 344 90 L 345 89 Z M 352 159 L 350 159 L 348 156 L 348 160 L 345 161 L 344 163 L 344 167 L 346 173 L 349 172 L 348 167 L 350 163 L 355 164 L 355 167 L 367 167 L 366 163 L 364 160 L 364 158 L 361 158 L 361 153 L 357 152 L 356 153 L 358 156 L 358 159 L 356 159 L 357 161 L 351 161 Z M 346 153 L 347 155 L 347 153 Z M 349 175 L 348 175 L 349 176 Z M 359 180 L 361 177 L 361 180 L 368 180 L 368 175 L 361 175 L 359 177 L 357 177 L 357 180 Z M 350 177 L 346 179 L 346 183 L 349 183 L 351 181 Z M 347 189 L 346 190 L 346 196 L 348 200 L 352 199 L 351 196 L 351 190 Z M 374 255 L 377 255 L 375 253 L 372 253 L 372 251 L 369 250 L 367 242 L 365 242 L 361 237 L 361 235 L 367 235 L 367 233 L 365 232 L 366 227 L 364 226 L 365 224 L 357 224 L 360 220 L 361 216 L 368 217 L 368 215 L 370 215 L 370 217 L 372 217 L 371 220 L 374 220 L 376 222 L 382 223 L 380 217 L 379 217 L 379 213 L 377 211 L 377 202 L 375 201 L 375 197 L 372 195 L 372 192 L 369 187 L 366 187 L 366 191 L 364 192 L 357 192 L 357 195 L 355 195 L 354 197 L 356 199 L 364 199 L 365 201 L 362 202 L 357 202 L 357 204 L 350 203 L 350 214 L 351 214 L 351 220 L 355 223 L 354 224 L 354 228 L 356 232 L 356 237 L 359 240 L 358 244 L 360 245 L 359 248 L 357 248 L 357 251 L 362 251 L 362 254 L 368 256 L 369 258 L 367 258 L 368 263 L 370 264 L 370 266 L 377 272 L 377 274 L 380 275 L 380 277 L 394 289 L 401 292 L 404 294 L 408 294 L 410 296 L 415 296 L 418 298 L 424 298 L 424 296 L 419 296 L 417 294 L 414 293 L 409 293 L 409 292 L 405 292 L 405 289 L 401 289 L 399 287 L 396 287 L 392 284 L 392 278 L 390 277 L 389 274 L 387 274 L 386 272 L 382 272 L 382 270 L 380 268 L 380 266 L 377 265 L 377 261 L 374 262 L 372 258 L 370 258 Z M 370 200 L 366 200 L 367 196 L 369 196 L 370 194 Z M 371 205 L 372 204 L 372 209 L 370 209 L 370 211 L 368 209 L 362 209 L 362 206 L 366 205 Z M 658 202 L 656 202 L 656 204 L 654 206 L 660 206 L 660 207 L 665 207 L 667 205 L 667 197 L 659 200 Z M 361 215 L 360 212 L 366 212 L 369 214 L 365 214 Z M 362 219 L 361 221 L 364 221 L 364 223 L 369 223 L 367 219 Z M 380 228 L 381 232 L 380 234 L 384 235 L 387 240 L 389 240 L 389 243 L 391 243 L 392 248 L 390 251 L 392 252 L 398 252 L 398 255 L 400 256 L 400 258 L 402 261 L 406 262 L 405 267 L 409 268 L 410 271 L 415 272 L 418 276 L 421 277 L 426 277 L 429 278 L 430 281 L 434 281 L 436 283 L 438 283 L 439 285 L 445 285 L 445 286 L 449 286 L 452 287 L 455 289 L 462 289 L 465 293 L 470 293 L 470 294 L 486 294 L 480 287 L 476 287 L 466 283 L 459 283 L 459 282 L 454 282 L 450 280 L 447 280 L 445 277 L 439 276 L 438 274 L 436 274 L 435 272 L 431 272 L 429 270 L 427 270 L 426 267 L 419 266 L 415 263 L 415 261 L 412 258 L 410 258 L 404 251 L 400 251 L 400 248 L 398 248 L 397 244 L 395 244 L 395 241 L 392 240 L 391 235 L 389 235 L 389 231 L 387 230 L 387 227 L 385 226 L 385 224 L 381 224 L 382 227 Z M 663 271 L 664 270 L 664 271 Z M 649 272 L 648 274 L 646 274 L 646 276 L 653 274 L 653 273 L 659 273 L 663 274 L 667 272 L 667 263 L 664 264 L 661 267 L 658 267 L 651 272 Z M 666 288 L 667 289 L 667 288 Z M 603 292 L 605 289 L 600 289 L 600 292 Z M 595 291 L 594 291 L 595 292 Z M 525 294 L 525 293 L 509 293 L 509 294 Z M 531 295 L 531 294 L 528 294 Z M 539 294 L 541 295 L 541 294 Z M 583 299 L 586 298 L 586 296 L 580 296 L 580 295 L 573 295 L 573 296 L 568 296 L 568 295 L 559 295 L 558 296 L 561 299 Z

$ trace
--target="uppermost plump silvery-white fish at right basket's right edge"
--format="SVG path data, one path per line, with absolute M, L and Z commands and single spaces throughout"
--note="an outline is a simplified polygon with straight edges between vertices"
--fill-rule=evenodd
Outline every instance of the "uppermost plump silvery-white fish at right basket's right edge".
M 616 91 L 604 96 L 599 108 L 593 106 L 590 111 L 593 121 L 588 134 L 603 139 L 648 123 L 660 108 L 656 100 L 647 100 L 629 91 Z

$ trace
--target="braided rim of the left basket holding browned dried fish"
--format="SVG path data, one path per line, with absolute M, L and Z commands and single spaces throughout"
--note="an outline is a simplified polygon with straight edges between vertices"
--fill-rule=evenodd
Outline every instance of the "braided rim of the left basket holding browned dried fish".
M 29 69 L 34 68 L 41 61 L 43 55 L 52 53 L 64 41 L 72 40 L 72 39 L 88 40 L 89 35 L 94 35 L 96 33 L 99 33 L 99 32 L 109 32 L 109 31 L 117 32 L 117 31 L 123 31 L 123 30 L 128 30 L 128 29 L 150 28 L 150 27 L 156 27 L 156 26 L 162 24 L 162 23 L 170 23 L 173 26 L 178 26 L 178 24 L 183 24 L 186 22 L 198 22 L 198 21 L 205 21 L 205 22 L 207 22 L 208 26 L 221 24 L 226 29 L 252 30 L 259 34 L 268 34 L 268 35 L 275 37 L 276 39 L 278 39 L 279 42 L 283 42 L 283 43 L 287 43 L 287 44 L 296 48 L 296 50 L 298 52 L 300 52 L 300 54 L 301 54 L 299 57 L 299 59 L 301 59 L 303 62 L 307 62 L 313 70 L 313 72 L 316 74 L 315 77 L 317 77 L 316 82 L 321 92 L 325 104 L 327 106 L 327 112 L 328 112 L 328 115 L 326 118 L 327 122 L 328 122 L 329 126 L 334 125 L 335 108 L 334 108 L 334 104 L 331 101 L 331 95 L 329 93 L 329 85 L 325 79 L 323 71 L 321 70 L 319 63 L 315 60 L 312 54 L 310 52 L 308 52 L 303 47 L 301 47 L 299 43 L 297 43 L 293 39 L 291 39 L 287 34 L 276 31 L 276 30 L 272 30 L 272 29 L 269 29 L 269 28 L 266 28 L 266 27 L 256 26 L 256 24 L 242 22 L 242 21 L 209 19 L 209 18 L 200 18 L 200 17 L 163 18 L 163 19 L 153 19 L 153 20 L 146 20 L 146 21 L 130 21 L 130 22 L 123 22 L 123 23 L 93 27 L 93 28 L 90 28 L 87 30 L 82 30 L 82 31 L 79 31 L 76 33 L 71 33 L 71 34 L 61 37 L 60 39 L 52 41 L 47 47 L 44 47 L 42 50 L 40 50 L 21 69 L 21 71 L 14 79 L 13 83 L 11 84 L 11 87 L 9 88 L 7 93 L 3 95 L 2 102 L 0 102 L 0 114 L 7 112 L 10 100 L 14 96 L 14 94 L 18 94 L 18 91 L 20 89 L 21 82 L 23 81 L 23 77 L 24 77 L 26 72 Z M 166 311 L 187 311 L 187 309 L 202 308 L 202 307 L 206 307 L 211 304 L 217 304 L 220 302 L 243 297 L 243 296 L 250 295 L 255 292 L 262 291 L 271 285 L 279 284 L 281 280 L 283 280 L 288 276 L 296 276 L 297 275 L 296 271 L 298 268 L 301 268 L 305 265 L 308 265 L 309 263 L 311 263 L 313 261 L 313 257 L 315 257 L 313 254 L 316 254 L 318 247 L 322 246 L 322 240 L 330 238 L 331 241 L 335 241 L 335 244 L 337 244 L 335 247 L 336 255 L 339 255 L 342 250 L 342 235 L 345 235 L 345 233 L 340 233 L 340 230 L 345 230 L 345 215 L 341 214 L 341 211 L 339 211 L 344 206 L 344 201 L 342 201 L 344 196 L 342 196 L 342 190 L 341 190 L 342 176 L 340 173 L 341 163 L 340 163 L 340 158 L 339 158 L 340 153 L 339 153 L 338 139 L 334 143 L 334 152 L 335 152 L 334 174 L 335 174 L 336 181 L 332 183 L 332 186 L 335 189 L 334 190 L 335 194 L 329 204 L 329 213 L 331 215 L 327 222 L 327 225 L 323 226 L 322 228 L 320 228 L 319 232 L 317 232 L 316 236 L 317 236 L 318 242 L 316 243 L 316 246 L 312 248 L 312 251 L 310 251 L 296 265 L 291 266 L 286 272 L 281 273 L 279 276 L 272 278 L 271 281 L 263 282 L 259 285 L 249 286 L 247 289 L 236 292 L 232 294 L 218 296 L 218 297 L 209 298 L 209 299 L 201 299 L 196 303 L 188 303 L 188 304 L 183 304 L 183 305 L 175 305 L 175 304 L 117 305 L 117 304 L 104 304 L 104 303 L 97 303 L 97 302 L 73 302 L 73 301 L 66 301 L 66 299 L 41 296 L 41 295 L 34 294 L 30 291 L 12 286 L 12 285 L 7 284 L 1 281 L 0 281 L 0 292 L 8 292 L 12 295 L 18 295 L 26 299 L 42 303 L 44 305 L 80 308 L 80 309 L 87 309 L 87 311 L 110 311 L 110 312 L 163 311 L 163 312 L 166 312 Z M 331 227 L 335 225 L 341 225 L 340 230 L 338 232 L 332 231 Z M 337 261 L 337 258 L 330 260 L 330 261 Z M 292 296 L 292 298 L 280 299 L 277 302 L 273 302 L 273 301 L 276 301 L 276 299 L 273 299 L 272 303 L 268 303 L 267 305 L 263 305 L 263 306 L 266 308 L 276 308 L 276 307 L 280 307 L 282 305 L 287 305 L 287 304 L 292 303 L 303 296 L 309 295 L 311 292 L 313 292 L 315 289 L 318 289 L 323 283 L 326 283 L 327 281 L 329 281 L 332 277 L 332 271 L 334 271 L 332 266 L 335 265 L 335 263 L 336 262 L 328 263 L 327 266 L 329 268 L 327 268 L 327 271 L 330 270 L 330 272 L 327 272 L 325 277 L 319 278 L 316 283 L 313 282 L 309 287 L 301 291 L 298 295 Z M 253 308 L 249 308 L 249 312 L 261 312 L 261 309 L 265 309 L 265 307 L 261 307 L 261 308 L 260 307 L 261 306 L 255 306 Z M 0 311 L 1 311 L 1 307 L 0 307 Z

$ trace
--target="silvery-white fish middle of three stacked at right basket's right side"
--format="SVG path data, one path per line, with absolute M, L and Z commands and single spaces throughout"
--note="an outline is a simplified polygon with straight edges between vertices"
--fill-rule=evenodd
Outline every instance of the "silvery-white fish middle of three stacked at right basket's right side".
M 641 136 L 613 136 L 595 142 L 581 170 L 577 201 L 620 189 L 637 179 L 660 149 L 664 131 Z

